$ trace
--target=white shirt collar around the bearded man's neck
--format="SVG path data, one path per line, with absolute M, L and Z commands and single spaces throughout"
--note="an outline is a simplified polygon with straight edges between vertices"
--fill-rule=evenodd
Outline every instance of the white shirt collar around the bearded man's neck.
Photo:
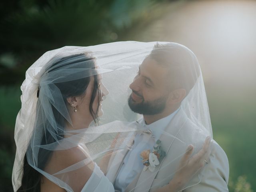
M 164 132 L 164 129 L 166 128 L 166 126 L 169 124 L 169 122 L 172 120 L 172 118 L 175 116 L 175 114 L 178 112 L 180 108 L 178 108 L 176 111 L 174 111 L 173 113 L 171 113 L 170 115 L 159 119 L 149 125 L 147 125 L 145 123 L 144 118 L 142 119 L 141 125 L 143 127 L 144 130 L 151 130 L 153 135 L 154 135 L 154 139 L 158 140 L 161 136 L 161 134 Z

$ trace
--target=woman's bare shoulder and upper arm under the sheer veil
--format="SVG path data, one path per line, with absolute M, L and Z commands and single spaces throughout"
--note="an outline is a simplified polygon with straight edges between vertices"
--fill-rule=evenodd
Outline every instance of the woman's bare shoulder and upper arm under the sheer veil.
M 45 172 L 54 174 L 54 177 L 60 178 L 63 182 L 68 184 L 73 191 L 82 190 L 93 170 L 94 162 L 81 146 L 53 151 L 45 167 Z M 50 180 L 45 177 L 43 178 L 46 180 L 46 182 L 44 181 L 46 186 L 54 184 L 50 184 Z

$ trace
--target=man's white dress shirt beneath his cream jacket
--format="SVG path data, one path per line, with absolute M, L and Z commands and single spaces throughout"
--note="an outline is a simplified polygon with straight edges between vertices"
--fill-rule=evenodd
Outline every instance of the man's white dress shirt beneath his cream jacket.
M 162 132 L 172 120 L 174 115 L 178 112 L 178 110 L 169 116 L 157 120 L 156 122 L 153 122 L 149 125 L 145 123 L 143 118 L 138 121 L 144 130 L 152 131 L 154 138 L 148 138 L 148 136 L 145 134 L 136 134 L 134 138 L 134 145 L 132 146 L 132 149 L 126 154 L 116 177 L 116 181 L 114 183 L 114 188 L 116 190 L 124 192 L 128 184 L 130 184 L 136 175 L 142 171 L 144 165 L 142 163 L 142 159 L 140 158 L 140 153 L 143 150 L 153 149 L 156 141 L 160 138 Z

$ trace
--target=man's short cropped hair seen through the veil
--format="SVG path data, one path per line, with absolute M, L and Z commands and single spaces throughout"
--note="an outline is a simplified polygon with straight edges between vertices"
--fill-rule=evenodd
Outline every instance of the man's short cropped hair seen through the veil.
M 160 66 L 168 68 L 167 83 L 170 83 L 171 90 L 183 88 L 188 94 L 200 75 L 200 66 L 196 56 L 191 50 L 180 44 L 157 43 L 149 57 Z

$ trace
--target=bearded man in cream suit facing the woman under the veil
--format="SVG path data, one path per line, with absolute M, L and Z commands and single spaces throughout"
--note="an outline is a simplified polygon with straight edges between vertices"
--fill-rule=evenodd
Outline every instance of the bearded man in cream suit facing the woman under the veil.
M 128 104 L 143 115 L 136 122 L 142 134 L 136 134 L 130 150 L 110 160 L 106 176 L 120 192 L 148 192 L 170 182 L 188 144 L 201 148 L 212 131 L 210 116 L 198 61 L 180 44 L 156 44 L 130 89 Z M 144 171 L 140 153 L 152 150 L 157 140 L 161 140 L 166 156 L 154 170 Z M 184 192 L 228 191 L 228 159 L 215 141 L 205 162 L 204 170 L 192 178 Z

